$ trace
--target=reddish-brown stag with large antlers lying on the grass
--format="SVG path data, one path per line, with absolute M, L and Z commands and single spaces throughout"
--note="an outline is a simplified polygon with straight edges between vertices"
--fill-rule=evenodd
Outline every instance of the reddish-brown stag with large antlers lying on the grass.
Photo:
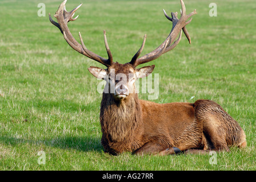
M 61 3 L 54 15 L 58 23 L 54 22 L 49 14 L 50 22 L 61 30 L 64 39 L 75 51 L 107 67 L 106 69 L 89 68 L 93 76 L 107 82 L 105 88 L 108 89 L 103 92 L 100 112 L 101 143 L 106 152 L 113 155 L 124 151 L 139 155 L 167 155 L 181 151 L 190 153 L 203 153 L 209 150 L 229 151 L 230 146 L 246 146 L 245 132 L 237 121 L 213 101 L 197 100 L 193 104 L 178 102 L 157 104 L 139 100 L 135 92 L 135 80 L 149 75 L 154 69 L 154 65 L 137 69 L 138 65 L 153 61 L 177 46 L 181 40 L 182 30 L 190 43 L 190 36 L 185 26 L 191 22 L 192 18 L 188 21 L 187 19 L 197 14 L 195 10 L 186 15 L 185 5 L 181 0 L 182 10 L 179 19 L 177 13 L 171 13 L 172 17 L 170 17 L 164 11 L 166 18 L 173 22 L 166 40 L 154 51 L 138 58 L 145 45 L 145 35 L 141 48 L 131 61 L 119 64 L 113 61 L 105 31 L 103 35 L 108 59 L 89 51 L 83 43 L 80 32 L 81 44 L 74 39 L 67 23 L 77 19 L 78 16 L 76 18 L 73 16 L 82 4 L 67 12 L 65 3 L 66 0 Z M 175 40 L 178 34 L 179 37 Z M 111 71 L 114 71 L 114 74 L 111 74 Z M 119 79 L 116 78 L 118 74 L 122 75 Z M 128 75 L 129 78 L 123 81 Z M 120 86 L 121 81 L 123 82 Z M 113 85 L 114 91 L 110 92 Z

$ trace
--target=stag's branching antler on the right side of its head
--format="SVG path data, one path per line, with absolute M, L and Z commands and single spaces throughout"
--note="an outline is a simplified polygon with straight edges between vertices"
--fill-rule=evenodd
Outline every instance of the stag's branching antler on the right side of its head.
M 147 53 L 145 56 L 142 56 L 139 59 L 137 59 L 145 45 L 146 35 L 144 36 L 141 48 L 133 56 L 133 59 L 131 59 L 131 61 L 130 61 L 130 64 L 133 65 L 134 68 L 137 67 L 139 64 L 147 63 L 149 61 L 153 61 L 153 60 L 157 59 L 163 53 L 166 53 L 166 52 L 170 51 L 171 49 L 173 49 L 175 46 L 177 46 L 177 44 L 181 40 L 181 30 L 183 30 L 183 32 L 185 33 L 187 39 L 189 40 L 189 43 L 191 43 L 189 32 L 187 32 L 187 29 L 185 26 L 187 24 L 189 24 L 192 20 L 192 18 L 189 21 L 187 21 L 187 19 L 189 19 L 192 15 L 197 14 L 197 12 L 196 12 L 196 10 L 194 10 L 189 15 L 186 15 L 186 7 L 182 0 L 181 0 L 181 7 L 182 7 L 181 18 L 179 18 L 179 19 L 177 18 L 177 14 L 178 14 L 177 12 L 171 13 L 172 18 L 170 18 L 170 16 L 168 16 L 166 14 L 165 10 L 163 10 L 163 13 L 165 13 L 166 18 L 169 19 L 171 22 L 173 22 L 173 28 L 171 29 L 169 36 L 167 36 L 166 40 L 158 48 L 156 48 L 154 51 L 152 51 L 150 53 Z M 175 40 L 175 38 L 177 38 L 178 34 L 179 34 L 179 38 L 174 42 L 174 40 Z

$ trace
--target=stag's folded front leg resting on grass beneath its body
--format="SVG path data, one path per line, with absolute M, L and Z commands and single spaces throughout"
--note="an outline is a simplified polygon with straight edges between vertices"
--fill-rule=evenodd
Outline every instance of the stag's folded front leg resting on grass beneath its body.
M 171 147 L 163 149 L 163 147 L 159 146 L 155 143 L 146 143 L 138 150 L 134 151 L 136 155 L 143 155 L 143 154 L 153 154 L 153 155 L 170 155 L 170 154 L 177 154 L 178 148 Z

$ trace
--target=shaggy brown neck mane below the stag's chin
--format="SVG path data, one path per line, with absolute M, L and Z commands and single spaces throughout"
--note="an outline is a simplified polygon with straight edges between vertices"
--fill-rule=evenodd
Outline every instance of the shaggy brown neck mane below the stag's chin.
M 133 137 L 141 115 L 136 93 L 129 94 L 122 101 L 116 101 L 110 93 L 103 93 L 100 115 L 102 133 L 108 134 L 107 137 L 113 142 Z

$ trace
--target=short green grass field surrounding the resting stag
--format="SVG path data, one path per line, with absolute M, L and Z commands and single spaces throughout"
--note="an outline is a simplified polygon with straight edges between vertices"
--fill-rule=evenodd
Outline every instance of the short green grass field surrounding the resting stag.
M 163 15 L 181 9 L 178 0 L 68 1 L 83 3 L 69 23 L 79 40 L 107 57 L 103 30 L 114 60 L 130 61 L 147 41 L 142 55 L 165 40 L 171 23 Z M 209 16 L 209 4 L 217 16 Z M 38 16 L 45 3 L 46 16 Z M 245 130 L 247 147 L 210 155 L 111 156 L 101 146 L 99 81 L 90 66 L 102 67 L 75 52 L 48 19 L 61 0 L 0 1 L 0 170 L 255 170 L 256 3 L 254 0 L 185 0 L 187 13 L 197 9 L 185 36 L 173 51 L 151 62 L 159 73 L 154 102 L 218 102 Z M 146 65 L 151 65 L 146 64 Z M 147 100 L 149 94 L 139 94 Z M 45 152 L 45 164 L 39 151 Z

